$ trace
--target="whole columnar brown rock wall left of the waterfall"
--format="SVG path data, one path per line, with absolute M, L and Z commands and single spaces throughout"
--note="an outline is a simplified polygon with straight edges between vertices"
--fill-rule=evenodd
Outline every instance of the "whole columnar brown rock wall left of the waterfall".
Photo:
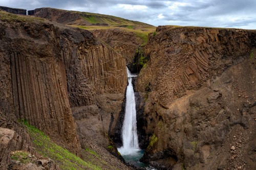
M 14 121 L 28 120 L 78 155 L 80 143 L 76 128 L 78 131 L 84 128 L 86 122 L 82 118 L 88 118 L 89 122 L 95 118 L 95 125 L 99 126 L 93 131 L 79 131 L 79 136 L 99 136 L 94 140 L 107 147 L 110 139 L 105 132 L 110 128 L 110 112 L 118 117 L 126 87 L 125 59 L 88 31 L 44 19 L 15 15 L 12 17 L 16 20 L 12 20 L 5 18 L 4 12 L 1 15 L 0 111 L 3 115 L 13 117 Z M 104 96 L 108 96 L 106 101 L 101 100 Z M 112 105 L 97 107 L 109 102 L 116 104 L 115 111 L 110 109 Z M 96 111 L 81 112 L 79 107 L 95 107 Z M 0 126 L 8 125 L 4 121 Z

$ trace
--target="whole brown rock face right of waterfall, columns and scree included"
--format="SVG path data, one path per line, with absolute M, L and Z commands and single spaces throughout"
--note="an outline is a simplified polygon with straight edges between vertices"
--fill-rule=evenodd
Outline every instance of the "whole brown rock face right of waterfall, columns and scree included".
M 143 160 L 161 169 L 255 167 L 255 31 L 158 27 L 145 55 L 136 83 L 151 140 Z

